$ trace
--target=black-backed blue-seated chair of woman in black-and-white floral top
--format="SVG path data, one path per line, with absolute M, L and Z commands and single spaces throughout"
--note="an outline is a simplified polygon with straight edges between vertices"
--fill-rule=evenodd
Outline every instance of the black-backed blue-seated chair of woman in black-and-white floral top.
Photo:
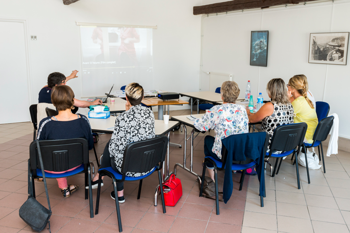
M 160 185 L 160 196 L 163 205 L 163 213 L 166 213 L 164 194 L 162 188 L 162 179 L 160 174 L 160 169 L 162 168 L 163 162 L 165 160 L 165 154 L 168 146 L 168 137 L 160 136 L 139 142 L 133 142 L 126 146 L 124 150 L 124 158 L 122 165 L 122 174 L 113 170 L 113 168 L 105 167 L 99 169 L 99 184 L 97 189 L 97 199 L 96 199 L 96 212 L 98 215 L 99 204 L 100 204 L 100 193 L 101 193 L 101 181 L 103 176 L 109 176 L 113 180 L 114 193 L 116 195 L 116 208 L 118 216 L 118 226 L 119 232 L 123 231 L 122 219 L 119 210 L 119 201 L 117 198 L 117 185 L 116 183 L 121 183 L 124 181 L 140 181 L 139 193 L 137 199 L 140 199 L 142 179 L 150 176 L 153 172 L 158 171 L 158 179 Z M 152 170 L 150 173 L 139 176 L 139 177 L 129 177 L 125 176 L 126 172 L 147 172 Z

